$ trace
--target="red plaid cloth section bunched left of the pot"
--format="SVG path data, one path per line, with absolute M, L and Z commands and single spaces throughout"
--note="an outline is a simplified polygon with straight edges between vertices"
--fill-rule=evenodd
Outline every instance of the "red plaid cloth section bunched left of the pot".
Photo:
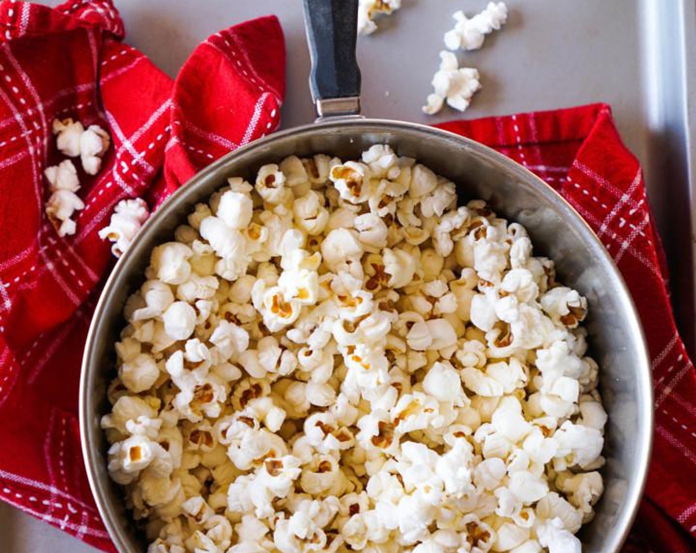
M 120 42 L 109 0 L 2 1 L 0 33 L 0 225 L 12 229 L 0 241 L 0 499 L 110 550 L 77 423 L 81 351 L 113 262 L 97 232 L 122 198 L 156 207 L 276 129 L 283 33 L 275 17 L 216 33 L 175 82 Z M 102 125 L 113 146 L 99 175 L 80 174 L 86 208 L 61 239 L 44 215 L 42 172 L 62 159 L 51 122 L 68 116 Z

